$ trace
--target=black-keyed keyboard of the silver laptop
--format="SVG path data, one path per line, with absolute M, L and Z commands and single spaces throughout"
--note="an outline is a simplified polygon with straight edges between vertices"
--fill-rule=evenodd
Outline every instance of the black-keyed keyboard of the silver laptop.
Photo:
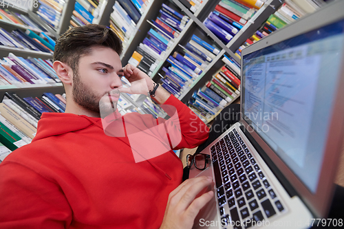
M 211 155 L 222 226 L 250 228 L 285 211 L 235 129 L 211 146 Z

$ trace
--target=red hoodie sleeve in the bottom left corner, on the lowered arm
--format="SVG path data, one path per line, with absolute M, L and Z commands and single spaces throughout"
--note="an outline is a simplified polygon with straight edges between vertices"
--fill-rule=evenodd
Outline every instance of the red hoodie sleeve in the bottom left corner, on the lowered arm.
M 0 164 L 0 196 L 0 228 L 62 229 L 72 221 L 61 188 L 16 162 Z

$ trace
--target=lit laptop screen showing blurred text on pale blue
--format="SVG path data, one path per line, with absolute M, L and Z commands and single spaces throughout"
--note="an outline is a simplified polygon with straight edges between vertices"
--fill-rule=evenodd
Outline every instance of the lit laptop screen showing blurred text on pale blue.
M 314 193 L 336 83 L 344 21 L 242 56 L 242 118 Z

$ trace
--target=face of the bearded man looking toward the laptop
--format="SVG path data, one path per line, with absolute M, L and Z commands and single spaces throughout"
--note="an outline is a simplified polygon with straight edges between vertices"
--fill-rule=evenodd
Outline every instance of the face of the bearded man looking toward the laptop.
M 108 94 L 122 87 L 122 72 L 120 56 L 114 50 L 93 47 L 91 54 L 80 57 L 78 70 L 73 72 L 74 102 L 96 113 L 113 112 L 116 107 L 111 106 Z M 103 98 L 99 104 L 103 96 L 107 99 Z M 116 98 L 117 96 L 111 96 L 112 102 L 115 102 Z

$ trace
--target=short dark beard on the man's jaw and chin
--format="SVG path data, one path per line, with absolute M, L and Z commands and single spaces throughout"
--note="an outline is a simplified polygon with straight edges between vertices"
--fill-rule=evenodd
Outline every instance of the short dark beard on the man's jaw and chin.
M 100 117 L 105 118 L 110 113 L 114 113 L 117 109 L 117 100 L 111 98 L 120 96 L 118 89 L 114 89 L 104 95 L 96 94 L 92 88 L 87 87 L 81 80 L 78 71 L 73 72 L 73 88 L 72 95 L 76 104 L 81 107 L 97 113 Z M 114 95 L 110 97 L 110 95 Z

